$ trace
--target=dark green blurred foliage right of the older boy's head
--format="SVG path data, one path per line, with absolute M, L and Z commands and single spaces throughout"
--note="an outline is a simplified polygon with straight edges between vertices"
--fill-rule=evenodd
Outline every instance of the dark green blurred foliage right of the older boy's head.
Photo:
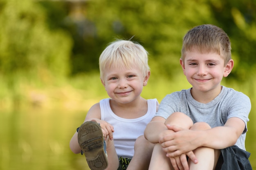
M 256 68 L 256 1 L 211 0 L 211 11 L 231 39 L 235 67 L 229 77 L 247 80 Z

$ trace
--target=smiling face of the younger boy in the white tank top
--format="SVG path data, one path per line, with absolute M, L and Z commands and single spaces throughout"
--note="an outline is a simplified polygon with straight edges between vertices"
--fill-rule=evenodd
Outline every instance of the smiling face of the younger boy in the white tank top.
M 131 68 L 110 67 L 104 70 L 101 82 L 108 96 L 113 100 L 127 104 L 139 98 L 143 86 L 147 85 L 150 72 L 142 76 L 141 69 L 136 66 Z

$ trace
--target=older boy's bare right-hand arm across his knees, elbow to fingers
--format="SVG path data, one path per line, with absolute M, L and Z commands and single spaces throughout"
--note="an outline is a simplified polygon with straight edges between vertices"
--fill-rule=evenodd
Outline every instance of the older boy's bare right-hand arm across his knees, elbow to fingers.
M 245 123 L 240 118 L 229 118 L 224 126 L 208 130 L 192 131 L 170 126 L 177 133 L 162 137 L 160 143 L 164 151 L 170 152 L 168 156 L 175 157 L 195 148 L 206 146 L 214 149 L 233 146 L 245 129 Z

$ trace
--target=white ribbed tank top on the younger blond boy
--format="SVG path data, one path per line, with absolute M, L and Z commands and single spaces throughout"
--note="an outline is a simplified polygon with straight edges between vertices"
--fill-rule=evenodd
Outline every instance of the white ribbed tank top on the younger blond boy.
M 105 120 L 114 127 L 113 138 L 118 157 L 133 157 L 135 140 L 140 135 L 144 135 L 146 125 L 155 116 L 159 105 L 157 99 L 148 99 L 147 102 L 148 111 L 144 116 L 136 119 L 125 119 L 115 115 L 111 110 L 110 98 L 100 100 L 101 120 Z

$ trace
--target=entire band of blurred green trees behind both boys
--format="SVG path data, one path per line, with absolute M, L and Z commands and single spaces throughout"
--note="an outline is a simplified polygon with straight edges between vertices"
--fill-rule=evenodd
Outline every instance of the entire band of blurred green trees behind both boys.
M 99 55 L 117 38 L 148 50 L 151 81 L 175 80 L 182 38 L 200 24 L 229 35 L 235 67 L 227 80 L 245 81 L 255 76 L 248 74 L 256 65 L 255 11 L 255 0 L 0 0 L 1 87 L 18 94 L 22 82 L 49 85 L 98 72 Z

